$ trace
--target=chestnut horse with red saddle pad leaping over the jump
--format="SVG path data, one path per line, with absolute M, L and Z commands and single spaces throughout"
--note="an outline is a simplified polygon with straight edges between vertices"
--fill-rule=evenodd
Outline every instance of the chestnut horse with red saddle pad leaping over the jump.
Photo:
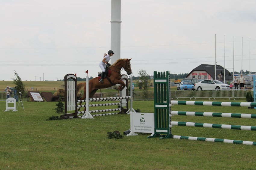
M 108 70 L 111 70 L 111 75 L 108 79 L 103 79 L 103 83 L 99 82 L 98 77 L 95 77 L 89 80 L 89 98 L 96 93 L 100 88 L 108 88 L 116 84 L 120 84 L 117 90 L 123 90 L 125 88 L 125 83 L 121 80 L 121 70 L 125 70 L 128 75 L 132 73 L 130 59 L 118 59 L 114 64 L 108 67 Z M 81 100 L 84 100 L 86 97 L 86 83 L 79 83 L 76 85 L 77 93 L 83 88 L 83 97 Z M 80 102 L 80 105 L 82 102 Z M 78 108 L 80 110 L 80 108 Z

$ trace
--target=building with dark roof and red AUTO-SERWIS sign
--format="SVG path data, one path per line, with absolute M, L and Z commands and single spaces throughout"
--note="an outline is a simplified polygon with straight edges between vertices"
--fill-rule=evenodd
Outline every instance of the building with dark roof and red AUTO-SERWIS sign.
M 204 79 L 214 79 L 215 78 L 214 65 L 211 64 L 201 64 L 198 67 L 195 67 L 186 78 L 197 78 L 199 80 Z M 230 72 L 225 69 L 225 80 L 232 81 L 232 75 Z M 216 80 L 221 82 L 224 81 L 224 67 L 216 65 Z

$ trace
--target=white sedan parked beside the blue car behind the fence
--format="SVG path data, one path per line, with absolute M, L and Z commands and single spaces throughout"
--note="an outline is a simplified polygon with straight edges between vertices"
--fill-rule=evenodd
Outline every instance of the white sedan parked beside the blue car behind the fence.
M 219 80 L 202 80 L 195 83 L 195 90 L 229 90 L 229 85 Z

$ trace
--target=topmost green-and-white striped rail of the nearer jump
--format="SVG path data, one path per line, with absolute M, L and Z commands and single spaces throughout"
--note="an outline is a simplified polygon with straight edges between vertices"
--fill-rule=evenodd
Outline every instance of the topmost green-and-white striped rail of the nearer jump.
M 204 101 L 179 101 L 172 100 L 172 105 L 197 105 L 197 106 L 246 106 L 256 107 L 256 103 L 253 102 L 204 102 Z

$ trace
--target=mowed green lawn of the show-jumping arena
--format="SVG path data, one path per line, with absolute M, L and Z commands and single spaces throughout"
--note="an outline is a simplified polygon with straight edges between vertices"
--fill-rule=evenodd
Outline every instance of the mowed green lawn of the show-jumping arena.
M 221 101 L 221 100 L 220 100 Z M 227 100 L 226 100 L 227 101 Z M 243 100 L 241 100 L 243 101 Z M 126 114 L 46 121 L 57 102 L 27 102 L 4 112 L 0 102 L 0 169 L 255 169 L 256 146 L 179 139 L 149 134 L 108 139 L 107 132 L 130 128 Z M 154 112 L 153 101 L 134 109 Z M 101 107 L 105 109 L 105 107 Z M 113 107 L 112 107 L 113 108 Z M 255 113 L 247 107 L 172 106 L 172 110 Z M 173 121 L 255 126 L 255 119 L 173 116 Z M 173 127 L 174 135 L 256 141 L 255 131 Z

